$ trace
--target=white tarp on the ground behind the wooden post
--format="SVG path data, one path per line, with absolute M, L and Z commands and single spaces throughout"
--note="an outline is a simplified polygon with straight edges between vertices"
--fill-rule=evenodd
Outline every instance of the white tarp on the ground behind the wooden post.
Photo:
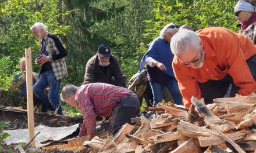
M 63 137 L 69 136 L 78 128 L 79 124 L 69 126 L 69 127 L 48 127 L 44 125 L 39 125 L 35 127 L 35 134 L 40 132 L 35 137 L 35 147 L 42 146 L 41 142 L 47 140 L 59 140 Z M 20 142 L 29 143 L 29 129 L 19 129 L 19 130 L 4 130 L 10 134 L 10 136 L 5 139 L 5 143 L 9 144 L 19 144 Z

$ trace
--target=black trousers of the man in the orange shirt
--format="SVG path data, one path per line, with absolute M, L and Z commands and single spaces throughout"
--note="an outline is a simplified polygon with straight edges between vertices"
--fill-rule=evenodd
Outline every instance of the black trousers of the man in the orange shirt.
M 256 81 L 256 55 L 248 59 L 246 63 L 250 68 L 254 80 Z M 223 80 L 209 80 L 204 83 L 198 82 L 199 88 L 201 90 L 201 96 L 204 98 L 205 104 L 211 104 L 213 103 L 213 99 L 224 97 L 227 89 L 229 89 L 230 84 L 232 85 L 232 89 L 230 91 L 229 97 L 234 97 L 240 88 L 234 85 L 234 81 L 229 74 L 227 74 Z

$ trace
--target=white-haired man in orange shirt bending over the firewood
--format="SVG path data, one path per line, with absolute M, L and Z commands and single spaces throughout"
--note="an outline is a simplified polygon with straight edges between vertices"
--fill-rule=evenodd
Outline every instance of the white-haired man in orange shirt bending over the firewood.
M 212 103 L 212 99 L 225 95 L 230 83 L 230 97 L 256 92 L 256 48 L 246 36 L 221 27 L 180 30 L 170 48 L 185 107 L 191 105 L 191 96 Z

